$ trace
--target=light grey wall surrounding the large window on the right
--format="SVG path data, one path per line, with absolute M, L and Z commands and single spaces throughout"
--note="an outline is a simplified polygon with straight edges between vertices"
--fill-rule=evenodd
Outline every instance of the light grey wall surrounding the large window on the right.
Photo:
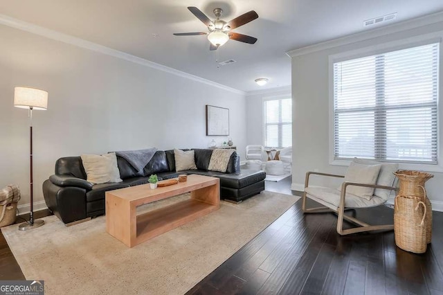
M 307 48 L 305 52 L 290 53 L 293 55 L 293 189 L 302 190 L 307 171 L 319 170 L 320 172 L 343 175 L 347 168 L 346 166 L 329 164 L 329 55 L 386 44 L 386 42 L 395 40 L 405 40 L 413 36 L 423 37 L 428 33 L 432 33 L 431 35 L 434 35 L 434 37 L 435 35 L 443 37 L 443 21 L 418 28 L 398 30 L 390 35 L 379 37 L 374 37 L 371 32 L 367 35 L 359 34 L 337 40 L 343 43 L 337 46 L 323 44 L 318 46 L 314 52 Z M 321 46 L 323 46 L 323 49 Z M 443 48 L 440 48 L 440 60 L 443 60 Z M 442 66 L 440 66 L 440 93 L 443 93 L 442 77 Z M 440 102 L 442 102 L 441 94 Z M 442 105 L 440 103 L 440 138 L 443 138 Z M 441 148 L 442 146 L 440 146 Z M 441 162 L 443 159 L 440 158 L 439 161 Z M 426 170 L 426 167 L 421 166 L 417 170 Z M 433 202 L 433 208 L 443 211 L 443 173 L 431 173 L 435 177 L 426 182 L 428 196 Z M 324 178 L 313 180 L 314 185 L 321 186 L 335 187 L 340 183 L 340 181 L 325 181 Z

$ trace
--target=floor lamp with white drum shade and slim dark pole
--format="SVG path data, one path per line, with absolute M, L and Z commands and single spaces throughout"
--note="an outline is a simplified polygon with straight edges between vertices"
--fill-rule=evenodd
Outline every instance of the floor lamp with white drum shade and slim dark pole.
M 14 106 L 29 110 L 29 161 L 30 161 L 30 217 L 28 222 L 19 225 L 20 231 L 35 229 L 44 224 L 44 220 L 34 220 L 33 209 L 33 109 L 48 108 L 48 92 L 30 87 L 15 87 Z

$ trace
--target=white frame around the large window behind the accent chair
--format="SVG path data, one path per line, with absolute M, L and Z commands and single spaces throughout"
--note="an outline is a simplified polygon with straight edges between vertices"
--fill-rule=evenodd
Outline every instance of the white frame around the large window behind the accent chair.
M 416 46 L 423 46 L 426 44 L 439 43 L 440 52 L 438 56 L 438 87 L 437 87 L 437 163 L 410 163 L 407 161 L 396 161 L 399 163 L 399 168 L 408 170 L 426 170 L 430 172 L 443 172 L 443 134 L 441 124 L 442 120 L 440 114 L 443 114 L 442 103 L 440 103 L 440 93 L 443 89 L 443 71 L 442 71 L 442 33 L 430 33 L 409 39 L 401 39 L 384 44 L 377 44 L 375 46 L 363 47 L 352 51 L 343 53 L 336 53 L 329 55 L 328 61 L 328 80 L 329 80 L 329 164 L 333 166 L 349 166 L 352 159 L 334 159 L 334 63 L 343 62 L 345 60 L 353 60 L 360 57 L 370 55 L 377 55 L 381 53 L 388 53 L 391 51 L 398 51 L 401 49 L 412 48 Z M 376 160 L 377 161 L 377 160 Z

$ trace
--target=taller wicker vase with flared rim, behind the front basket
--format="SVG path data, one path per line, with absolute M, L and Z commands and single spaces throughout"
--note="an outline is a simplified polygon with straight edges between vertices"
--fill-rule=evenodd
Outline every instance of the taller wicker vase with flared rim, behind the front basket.
M 424 183 L 434 175 L 415 170 L 397 170 L 394 174 L 399 178 L 397 195 L 419 199 L 426 205 L 426 243 L 429 244 L 432 240 L 432 206 L 426 195 Z

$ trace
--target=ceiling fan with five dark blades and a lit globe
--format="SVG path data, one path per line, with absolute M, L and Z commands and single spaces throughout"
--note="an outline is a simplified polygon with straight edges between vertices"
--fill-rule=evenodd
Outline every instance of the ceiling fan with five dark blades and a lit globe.
M 188 7 L 189 11 L 192 12 L 193 15 L 200 19 L 206 26 L 208 26 L 208 32 L 195 32 L 195 33 L 174 33 L 176 36 L 192 36 L 192 35 L 208 35 L 208 40 L 210 42 L 209 50 L 217 50 L 219 46 L 222 46 L 229 39 L 233 39 L 235 41 L 244 42 L 248 44 L 254 44 L 257 42 L 257 38 L 243 35 L 239 33 L 234 33 L 231 30 L 238 28 L 239 26 L 243 26 L 244 24 L 248 24 L 248 22 L 253 21 L 258 18 L 257 12 L 251 10 L 250 12 L 246 12 L 239 17 L 231 21 L 224 21 L 220 19 L 221 14 L 223 14 L 223 10 L 221 8 L 214 9 L 214 15 L 217 17 L 214 21 L 211 21 L 199 8 L 190 6 Z

